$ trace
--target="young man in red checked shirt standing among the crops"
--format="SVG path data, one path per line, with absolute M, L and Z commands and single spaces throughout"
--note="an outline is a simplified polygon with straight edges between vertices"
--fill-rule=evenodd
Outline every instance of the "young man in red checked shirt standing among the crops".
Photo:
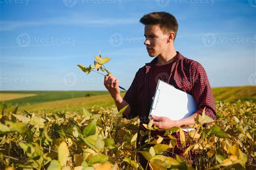
M 204 108 L 206 108 L 205 115 L 215 120 L 215 104 L 205 69 L 197 61 L 185 58 L 174 49 L 174 39 L 178 31 L 176 18 L 167 12 L 152 12 L 144 15 L 140 19 L 140 23 L 145 25 L 144 36 L 146 39 L 144 44 L 146 45 L 147 53 L 151 57 L 156 56 L 156 58 L 138 70 L 124 98 L 120 96 L 118 79 L 113 75 L 105 76 L 104 86 L 109 90 L 118 110 L 129 104 L 123 116 L 126 118 L 139 116 L 139 129 L 143 130 L 141 125 L 149 122 L 148 116 L 152 97 L 160 79 L 172 84 L 177 89 L 191 94 L 197 103 L 197 111 L 192 116 L 179 121 L 152 115 L 154 119 L 153 125 L 160 129 L 194 125 L 194 118 L 199 114 L 200 120 Z M 156 134 L 160 133 L 156 132 Z M 180 145 L 179 134 L 174 133 L 172 135 L 177 138 L 177 142 Z M 181 146 L 178 146 L 175 148 L 174 153 L 181 155 L 183 151 Z M 142 162 L 142 164 L 144 163 Z

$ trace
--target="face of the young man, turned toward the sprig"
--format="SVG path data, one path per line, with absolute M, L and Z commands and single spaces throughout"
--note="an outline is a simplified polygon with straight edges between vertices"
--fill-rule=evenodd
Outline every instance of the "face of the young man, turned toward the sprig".
M 157 56 L 166 51 L 169 35 L 164 34 L 158 25 L 145 25 L 144 36 L 149 56 Z

